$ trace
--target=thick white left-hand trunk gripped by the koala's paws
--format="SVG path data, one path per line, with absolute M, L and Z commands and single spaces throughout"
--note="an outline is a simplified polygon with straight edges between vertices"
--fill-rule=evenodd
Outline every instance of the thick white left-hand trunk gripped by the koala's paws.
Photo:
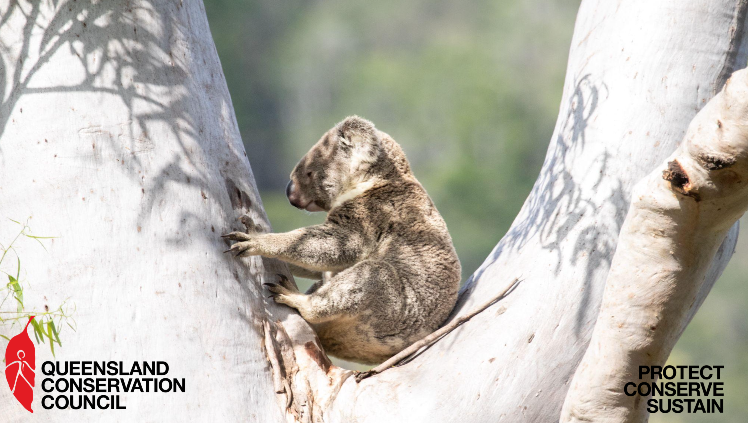
M 221 253 L 239 215 L 266 220 L 202 2 L 2 1 L 0 16 L 0 236 L 28 216 L 58 236 L 21 244 L 26 308 L 69 298 L 78 326 L 56 359 L 37 346 L 34 415 L 0 387 L 0 421 L 281 421 L 263 321 L 303 321 L 263 295 L 283 267 Z M 44 410 L 45 360 L 163 360 L 186 392 Z

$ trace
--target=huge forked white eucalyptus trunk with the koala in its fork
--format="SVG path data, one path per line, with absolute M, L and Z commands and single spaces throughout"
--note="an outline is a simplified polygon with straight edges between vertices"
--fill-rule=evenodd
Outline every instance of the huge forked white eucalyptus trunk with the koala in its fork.
M 78 331 L 56 358 L 38 349 L 37 368 L 163 360 L 187 382 L 123 394 L 126 410 L 101 413 L 35 399 L 55 422 L 558 421 L 634 185 L 748 59 L 745 1 L 583 1 L 538 181 L 453 317 L 521 282 L 411 362 L 357 383 L 295 311 L 263 296 L 282 264 L 221 255 L 218 235 L 242 213 L 269 227 L 202 4 L 6 1 L 0 12 L 0 214 L 59 236 L 21 253 L 27 305 L 77 307 Z M 720 230 L 671 338 L 732 254 L 737 229 Z M 28 419 L 9 391 L 0 404 L 4 422 Z

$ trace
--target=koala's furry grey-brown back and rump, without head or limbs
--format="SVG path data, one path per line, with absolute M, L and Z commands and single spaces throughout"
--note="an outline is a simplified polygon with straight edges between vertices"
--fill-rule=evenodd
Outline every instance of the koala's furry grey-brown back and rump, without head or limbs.
M 382 362 L 438 329 L 455 305 L 461 272 L 447 225 L 406 169 L 328 214 L 355 226 L 367 246 L 363 260 L 317 288 L 357 296 L 355 313 L 314 325 L 325 350 L 342 359 Z

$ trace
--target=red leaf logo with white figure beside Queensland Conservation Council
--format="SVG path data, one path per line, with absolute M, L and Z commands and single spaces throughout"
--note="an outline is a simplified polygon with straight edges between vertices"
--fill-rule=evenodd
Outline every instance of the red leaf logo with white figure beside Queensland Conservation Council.
M 31 410 L 31 400 L 34 399 L 34 369 L 37 368 L 37 356 L 34 344 L 26 334 L 28 323 L 34 316 L 28 317 L 28 322 L 22 332 L 7 343 L 5 348 L 5 379 L 10 386 L 16 400 L 28 411 Z

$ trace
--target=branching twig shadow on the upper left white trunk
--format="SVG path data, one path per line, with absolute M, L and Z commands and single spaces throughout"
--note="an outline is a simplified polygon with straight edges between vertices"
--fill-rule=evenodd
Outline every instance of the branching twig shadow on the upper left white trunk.
M 150 213 L 170 183 L 197 184 L 206 190 L 217 186 L 220 192 L 215 194 L 221 197 L 227 193 L 230 197 L 236 195 L 226 189 L 225 178 L 215 181 L 217 172 L 209 174 L 204 165 L 192 159 L 196 155 L 195 146 L 204 149 L 201 153 L 208 153 L 212 140 L 187 143 L 188 139 L 202 141 L 215 135 L 203 133 L 206 118 L 212 117 L 206 116 L 201 105 L 206 102 L 230 105 L 230 98 L 227 92 L 215 98 L 216 92 L 222 94 L 225 90 L 209 90 L 208 86 L 199 85 L 204 81 L 195 80 L 199 78 L 191 73 L 191 67 L 199 65 L 194 64 L 195 58 L 204 52 L 191 57 L 183 45 L 183 39 L 191 34 L 182 22 L 186 15 L 189 17 L 182 2 L 156 3 L 11 1 L 6 10 L 0 10 L 0 33 L 17 34 L 16 39 L 0 40 L 0 55 L 4 59 L 0 61 L 0 86 L 4 87 L 0 102 L 0 150 L 9 142 L 17 142 L 3 135 L 23 96 L 109 94 L 126 106 L 127 115 L 118 125 L 88 124 L 79 130 L 79 141 L 91 142 L 91 156 L 87 159 L 96 162 L 103 159 L 102 148 L 119 154 L 121 171 L 137 179 L 143 187 L 142 216 Z M 79 75 L 70 76 L 74 71 L 66 71 L 64 77 L 52 81 L 35 78 L 53 56 L 66 53 L 77 62 L 70 66 L 80 67 Z M 70 83 L 70 78 L 76 82 Z M 221 76 L 215 75 L 211 75 L 208 83 L 213 79 L 215 83 L 223 83 Z M 165 92 L 169 95 L 162 95 Z M 168 127 L 168 140 L 153 138 L 149 128 L 154 124 Z M 179 148 L 155 177 L 145 177 L 143 157 L 159 141 L 176 141 Z M 230 203 L 237 205 L 234 199 Z M 251 201 L 239 204 L 251 205 Z

